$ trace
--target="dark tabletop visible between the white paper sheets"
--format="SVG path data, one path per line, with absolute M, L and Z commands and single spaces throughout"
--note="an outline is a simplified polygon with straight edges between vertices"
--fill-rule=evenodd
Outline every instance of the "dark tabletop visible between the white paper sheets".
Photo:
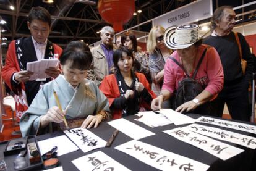
M 197 114 L 188 114 L 188 115 L 194 118 L 198 118 L 201 116 Z M 125 119 L 129 120 L 130 122 L 136 123 L 140 127 L 146 128 L 147 130 L 155 133 L 155 135 L 142 138 L 139 141 L 151 144 L 153 146 L 164 149 L 166 151 L 174 152 L 181 156 L 189 157 L 190 159 L 194 159 L 195 161 L 202 162 L 203 164 L 210 165 L 210 168 L 208 170 L 218 170 L 218 171 L 221 171 L 221 170 L 233 170 L 233 171 L 234 170 L 241 170 L 241 171 L 254 170 L 255 171 L 256 170 L 256 152 L 255 152 L 256 150 L 254 149 L 250 149 L 244 146 L 222 141 L 223 143 L 231 144 L 232 146 L 236 146 L 237 148 L 244 149 L 244 152 L 242 152 L 241 154 L 238 154 L 237 156 L 231 157 L 230 159 L 223 161 L 218 157 L 215 157 L 209 154 L 208 152 L 203 151 L 202 149 L 199 149 L 195 146 L 184 143 L 183 141 L 177 140 L 173 136 L 170 136 L 162 132 L 163 130 L 170 130 L 170 129 L 176 128 L 177 126 L 174 124 L 166 125 L 163 127 L 151 128 L 151 127 L 148 127 L 147 125 L 144 125 L 141 122 L 135 121 L 134 120 L 135 118 L 137 118 L 136 115 L 125 117 Z M 243 123 L 247 123 L 247 122 L 243 122 Z M 207 125 L 204 123 L 198 123 L 198 124 Z M 182 126 L 185 126 L 185 125 L 182 125 Z M 218 127 L 215 125 L 208 125 L 208 126 L 221 128 L 223 130 L 233 131 L 236 133 L 241 133 L 243 135 L 256 137 L 256 135 L 247 133 L 244 131 Z M 100 136 L 100 138 L 103 138 L 103 140 L 106 140 L 106 141 L 109 140 L 109 137 L 111 136 L 114 130 L 115 128 L 108 125 L 107 122 L 101 123 L 98 128 L 90 129 L 90 131 L 95 133 L 95 135 Z M 64 135 L 64 133 L 62 131 L 58 131 L 58 132 L 54 132 L 46 135 L 40 135 L 40 136 L 37 136 L 37 140 L 41 141 L 41 140 L 45 140 L 47 138 L 53 138 L 59 135 Z M 77 167 L 75 167 L 75 165 L 72 164 L 71 162 L 72 160 L 96 151 L 102 151 L 105 154 L 107 154 L 109 157 L 112 157 L 114 160 L 121 163 L 122 165 L 124 165 L 130 170 L 158 170 L 154 167 L 151 167 L 150 165 L 147 165 L 135 159 L 132 156 L 129 156 L 124 152 L 114 149 L 114 147 L 120 144 L 126 143 L 127 141 L 130 141 L 130 140 L 132 140 L 132 138 L 130 138 L 129 136 L 125 135 L 120 131 L 116 136 L 116 139 L 113 141 L 113 144 L 111 145 L 110 148 L 95 149 L 93 151 L 89 151 L 86 153 L 83 153 L 79 149 L 78 151 L 70 152 L 69 154 L 64 154 L 62 156 L 59 156 L 58 159 L 59 159 L 60 165 L 63 167 L 63 170 L 78 170 Z M 221 140 L 218 140 L 218 141 L 221 141 Z

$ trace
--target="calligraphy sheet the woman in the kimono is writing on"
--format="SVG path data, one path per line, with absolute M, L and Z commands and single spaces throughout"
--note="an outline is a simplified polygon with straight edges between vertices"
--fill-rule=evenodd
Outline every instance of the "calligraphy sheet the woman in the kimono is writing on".
M 66 133 L 70 140 L 79 146 L 83 152 L 106 146 L 105 140 L 84 128 L 74 128 L 72 130 L 66 130 L 64 133 Z

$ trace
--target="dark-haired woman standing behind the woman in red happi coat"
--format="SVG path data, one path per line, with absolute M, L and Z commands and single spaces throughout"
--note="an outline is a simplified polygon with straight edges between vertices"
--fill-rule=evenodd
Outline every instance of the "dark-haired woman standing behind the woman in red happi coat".
M 132 51 L 134 56 L 134 72 L 143 73 L 148 82 L 151 83 L 150 70 L 148 68 L 148 56 L 144 52 L 139 52 L 137 49 L 137 38 L 132 32 L 123 33 L 121 36 L 122 46 Z

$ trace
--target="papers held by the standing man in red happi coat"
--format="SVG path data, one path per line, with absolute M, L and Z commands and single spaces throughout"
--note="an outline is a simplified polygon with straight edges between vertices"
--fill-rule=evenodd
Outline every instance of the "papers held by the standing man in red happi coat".
M 50 76 L 45 73 L 49 67 L 56 67 L 59 60 L 56 59 L 41 59 L 27 63 L 27 70 L 34 74 L 30 76 L 29 80 L 44 79 Z

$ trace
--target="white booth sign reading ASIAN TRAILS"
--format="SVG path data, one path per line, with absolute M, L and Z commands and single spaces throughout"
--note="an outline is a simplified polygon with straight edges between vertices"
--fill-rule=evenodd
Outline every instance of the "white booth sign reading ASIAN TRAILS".
M 156 17 L 153 19 L 153 25 L 161 25 L 164 28 L 168 28 L 173 25 L 207 19 L 211 15 L 213 15 L 212 0 L 198 0 Z

